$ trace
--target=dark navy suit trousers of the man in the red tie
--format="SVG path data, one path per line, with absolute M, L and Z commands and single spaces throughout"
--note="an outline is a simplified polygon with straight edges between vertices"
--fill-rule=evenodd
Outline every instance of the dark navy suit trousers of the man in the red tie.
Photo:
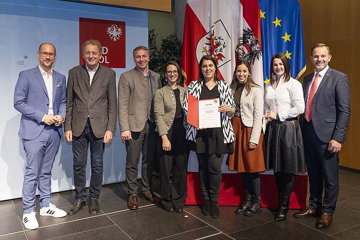
M 310 207 L 332 216 L 339 195 L 339 153 L 330 153 L 327 150 L 329 143 L 321 141 L 314 126 L 306 120 L 303 138 L 310 184 Z

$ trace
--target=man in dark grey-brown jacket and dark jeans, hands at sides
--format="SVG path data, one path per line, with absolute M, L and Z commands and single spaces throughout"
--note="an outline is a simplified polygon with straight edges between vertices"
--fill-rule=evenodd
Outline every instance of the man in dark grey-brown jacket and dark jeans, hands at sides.
M 103 53 L 98 40 L 82 45 L 85 64 L 69 70 L 65 138 L 72 142 L 76 201 L 73 215 L 87 205 L 86 162 L 90 144 L 91 178 L 89 213 L 100 210 L 98 199 L 103 185 L 103 155 L 116 129 L 117 97 L 115 71 L 99 63 Z

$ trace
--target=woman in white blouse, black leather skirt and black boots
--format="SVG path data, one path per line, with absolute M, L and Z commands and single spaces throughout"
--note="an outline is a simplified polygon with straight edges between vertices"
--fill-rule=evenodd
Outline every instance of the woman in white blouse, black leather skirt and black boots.
M 279 192 L 275 221 L 284 221 L 295 184 L 295 174 L 306 172 L 304 144 L 297 116 L 304 113 L 301 83 L 290 77 L 288 58 L 276 53 L 271 58 L 270 83 L 265 86 L 264 111 L 266 169 L 273 169 Z

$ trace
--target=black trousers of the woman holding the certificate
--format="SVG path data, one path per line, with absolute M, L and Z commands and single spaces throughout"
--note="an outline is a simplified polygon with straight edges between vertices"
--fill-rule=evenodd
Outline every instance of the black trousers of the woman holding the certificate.
M 224 154 L 196 154 L 202 198 L 217 201 L 221 188 L 221 165 Z

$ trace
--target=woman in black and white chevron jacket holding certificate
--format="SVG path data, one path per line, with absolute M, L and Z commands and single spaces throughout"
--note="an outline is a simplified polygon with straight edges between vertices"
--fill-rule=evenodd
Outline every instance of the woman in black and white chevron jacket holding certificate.
M 194 98 L 199 102 L 209 100 L 209 103 L 218 104 L 217 113 L 214 115 L 220 115 L 220 127 L 197 128 L 188 124 L 186 130 L 186 138 L 191 140 L 191 149 L 195 150 L 198 157 L 198 174 L 204 200 L 202 213 L 205 216 L 211 215 L 213 218 L 218 218 L 220 214 L 217 200 L 221 185 L 222 160 L 224 154 L 234 151 L 233 141 L 235 140 L 230 122 L 235 109 L 233 93 L 231 87 L 220 80 L 217 71 L 216 60 L 210 55 L 203 56 L 199 62 L 199 79 L 189 84 L 184 101 L 184 110 L 186 115 L 189 114 L 188 117 L 194 114 L 188 112 L 191 108 L 188 104 L 193 104 L 188 101 L 189 98 Z M 200 107 L 198 108 L 200 111 Z M 211 109 L 205 108 L 205 111 L 211 112 Z

